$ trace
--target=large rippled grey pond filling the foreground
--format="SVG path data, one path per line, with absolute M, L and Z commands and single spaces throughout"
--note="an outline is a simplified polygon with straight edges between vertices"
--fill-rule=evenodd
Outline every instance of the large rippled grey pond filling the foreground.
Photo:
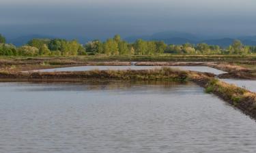
M 255 152 L 256 123 L 194 84 L 0 84 L 0 152 Z

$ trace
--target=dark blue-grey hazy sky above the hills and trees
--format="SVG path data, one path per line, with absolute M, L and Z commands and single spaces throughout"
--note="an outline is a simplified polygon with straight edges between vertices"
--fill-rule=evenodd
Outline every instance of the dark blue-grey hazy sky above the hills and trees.
M 106 38 L 256 35 L 255 0 L 0 0 L 0 33 Z

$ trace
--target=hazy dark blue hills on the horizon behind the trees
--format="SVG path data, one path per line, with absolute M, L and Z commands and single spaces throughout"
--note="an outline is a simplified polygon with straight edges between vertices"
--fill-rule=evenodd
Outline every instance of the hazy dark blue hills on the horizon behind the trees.
M 14 44 L 15 46 L 22 46 L 24 44 L 27 44 L 27 42 L 33 38 L 57 38 L 53 36 L 48 35 L 25 35 L 20 36 L 15 39 L 7 39 L 8 43 Z M 87 37 L 76 37 L 81 44 L 85 44 L 85 42 L 90 41 L 91 39 Z M 73 37 L 63 37 L 63 39 L 74 39 Z M 143 39 L 143 40 L 155 40 L 155 41 L 165 41 L 166 44 L 199 44 L 199 43 L 205 43 L 209 45 L 218 45 L 221 47 L 227 47 L 230 44 L 233 43 L 235 39 L 240 39 L 242 41 L 242 44 L 249 45 L 249 46 L 256 46 L 256 36 L 242 36 L 237 38 L 231 38 L 231 37 L 220 37 L 217 39 L 210 39 L 210 37 L 199 37 L 198 35 L 194 35 L 191 33 L 182 33 L 182 32 L 172 32 L 172 31 L 164 31 L 160 33 L 154 33 L 152 35 L 138 35 L 138 36 L 131 36 L 126 37 L 124 40 L 128 42 L 134 42 L 137 39 Z

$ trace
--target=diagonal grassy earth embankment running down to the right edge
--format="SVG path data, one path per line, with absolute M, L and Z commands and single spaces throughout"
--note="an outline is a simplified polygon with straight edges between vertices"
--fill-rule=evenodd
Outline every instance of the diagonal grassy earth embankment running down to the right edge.
M 256 93 L 233 84 L 221 82 L 200 73 L 190 73 L 191 81 L 203 86 L 205 92 L 212 92 L 248 116 L 256 119 Z

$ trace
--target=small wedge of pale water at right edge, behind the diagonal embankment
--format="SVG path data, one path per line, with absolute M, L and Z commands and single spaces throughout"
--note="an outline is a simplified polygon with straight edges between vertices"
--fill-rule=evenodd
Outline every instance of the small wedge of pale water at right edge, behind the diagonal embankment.
M 256 92 L 256 80 L 221 79 L 221 81 Z

